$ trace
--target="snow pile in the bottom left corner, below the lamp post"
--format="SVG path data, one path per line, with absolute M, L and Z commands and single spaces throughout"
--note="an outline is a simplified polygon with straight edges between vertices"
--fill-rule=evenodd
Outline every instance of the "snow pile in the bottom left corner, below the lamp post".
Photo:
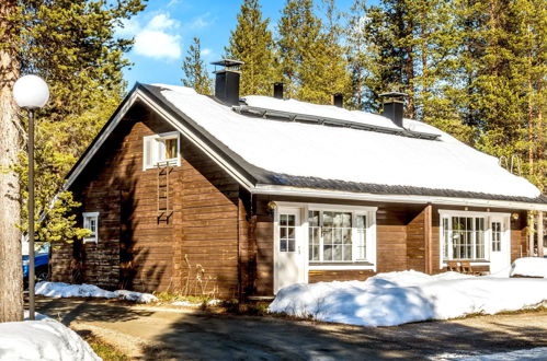
M 101 360 L 73 330 L 52 319 L 0 324 L 2 360 Z

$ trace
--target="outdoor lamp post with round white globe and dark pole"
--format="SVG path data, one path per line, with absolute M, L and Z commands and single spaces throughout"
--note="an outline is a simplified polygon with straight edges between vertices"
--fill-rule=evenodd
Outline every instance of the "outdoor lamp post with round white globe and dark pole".
M 46 105 L 49 89 L 42 78 L 24 75 L 13 85 L 13 97 L 29 112 L 29 318 L 34 319 L 34 110 Z

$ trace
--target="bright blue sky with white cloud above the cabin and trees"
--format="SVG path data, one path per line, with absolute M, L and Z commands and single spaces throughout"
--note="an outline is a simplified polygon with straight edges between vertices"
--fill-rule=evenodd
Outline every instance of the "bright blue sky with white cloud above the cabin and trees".
M 352 2 L 338 0 L 337 5 L 349 11 Z M 284 3 L 284 0 L 261 1 L 263 15 L 271 19 L 274 32 Z M 136 81 L 180 84 L 182 59 L 194 36 L 201 38 L 204 60 L 207 63 L 218 60 L 236 26 L 240 5 L 240 0 L 149 0 L 144 12 L 117 31 L 119 36 L 135 37 L 134 48 L 127 54 L 134 63 L 125 70 L 128 86 Z

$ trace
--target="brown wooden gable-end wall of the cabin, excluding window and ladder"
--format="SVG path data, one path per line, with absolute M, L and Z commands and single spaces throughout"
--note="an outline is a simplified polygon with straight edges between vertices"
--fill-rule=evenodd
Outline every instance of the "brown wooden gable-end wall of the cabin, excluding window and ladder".
M 100 212 L 100 241 L 55 251 L 54 280 L 237 294 L 238 236 L 247 236 L 239 186 L 184 138 L 181 166 L 170 173 L 174 213 L 158 222 L 158 171 L 143 171 L 143 137 L 172 130 L 143 107 L 123 120 L 72 189 L 82 212 Z

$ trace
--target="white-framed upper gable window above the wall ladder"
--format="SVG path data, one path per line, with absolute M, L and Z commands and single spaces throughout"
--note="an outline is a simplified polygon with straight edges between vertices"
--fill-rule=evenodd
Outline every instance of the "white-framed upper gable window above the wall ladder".
M 158 165 L 180 165 L 179 132 L 166 132 L 144 138 L 144 170 Z

